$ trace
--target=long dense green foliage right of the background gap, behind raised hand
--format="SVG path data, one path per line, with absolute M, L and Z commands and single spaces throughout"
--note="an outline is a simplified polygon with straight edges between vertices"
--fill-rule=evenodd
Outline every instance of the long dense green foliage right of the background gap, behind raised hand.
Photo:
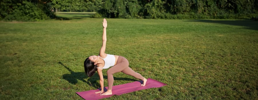
M 106 0 L 101 13 L 111 18 L 252 18 L 257 0 Z

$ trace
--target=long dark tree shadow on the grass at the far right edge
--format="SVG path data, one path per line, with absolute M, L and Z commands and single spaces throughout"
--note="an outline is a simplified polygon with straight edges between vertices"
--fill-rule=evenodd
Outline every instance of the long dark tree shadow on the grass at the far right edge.
M 235 25 L 235 26 L 243 26 L 245 29 L 258 30 L 258 21 L 252 20 L 205 20 L 205 19 L 195 19 L 190 20 L 192 22 L 205 22 L 205 23 L 219 23 L 219 24 L 227 24 L 227 25 Z

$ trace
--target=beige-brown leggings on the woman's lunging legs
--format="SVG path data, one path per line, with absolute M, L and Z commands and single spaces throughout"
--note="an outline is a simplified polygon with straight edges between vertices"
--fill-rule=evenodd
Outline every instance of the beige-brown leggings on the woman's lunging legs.
M 107 74 L 108 74 L 108 90 L 112 90 L 112 86 L 114 83 L 114 77 L 113 74 L 117 72 L 123 72 L 127 75 L 131 75 L 137 79 L 143 80 L 144 77 L 142 77 L 141 74 L 136 73 L 129 67 L 129 62 L 125 57 L 118 56 L 117 63 L 110 69 L 108 69 Z

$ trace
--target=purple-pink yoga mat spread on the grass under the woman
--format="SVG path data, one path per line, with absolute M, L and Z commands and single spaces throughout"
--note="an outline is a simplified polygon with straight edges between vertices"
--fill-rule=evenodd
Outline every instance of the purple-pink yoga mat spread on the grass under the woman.
M 86 100 L 98 100 L 98 99 L 103 99 L 103 98 L 108 98 L 113 95 L 122 95 L 124 93 L 130 93 L 134 91 L 139 91 L 143 89 L 150 89 L 150 88 L 155 88 L 155 87 L 162 87 L 166 85 L 165 83 L 156 81 L 154 79 L 148 78 L 146 85 L 141 86 L 143 81 L 135 81 L 132 83 L 126 83 L 122 85 L 116 85 L 112 87 L 112 95 L 100 95 L 100 93 L 95 94 L 95 92 L 100 91 L 101 89 L 96 89 L 96 90 L 90 90 L 90 91 L 83 91 L 83 92 L 76 92 L 78 95 L 80 95 L 83 99 Z M 104 91 L 107 91 L 108 87 L 104 87 Z

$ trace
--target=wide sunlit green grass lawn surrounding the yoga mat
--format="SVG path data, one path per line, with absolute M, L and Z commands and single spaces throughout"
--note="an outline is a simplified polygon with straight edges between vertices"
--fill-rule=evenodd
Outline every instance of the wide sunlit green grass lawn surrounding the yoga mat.
M 0 99 L 82 100 L 75 92 L 99 88 L 98 74 L 87 77 L 83 62 L 98 55 L 102 21 L 1 21 Z M 258 21 L 107 21 L 106 53 L 126 57 L 134 71 L 167 85 L 104 100 L 258 98 Z M 124 73 L 114 80 L 138 81 Z

